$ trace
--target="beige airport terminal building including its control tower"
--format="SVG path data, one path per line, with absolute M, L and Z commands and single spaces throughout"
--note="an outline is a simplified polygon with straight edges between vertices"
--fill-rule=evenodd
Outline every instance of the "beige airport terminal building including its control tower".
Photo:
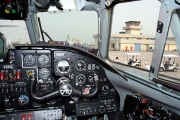
M 140 30 L 140 21 L 125 22 L 126 26 L 123 27 L 125 32 L 118 34 L 111 34 L 109 50 L 120 51 L 151 51 L 154 49 L 155 35 L 143 35 Z M 98 46 L 97 35 L 93 36 L 95 39 L 95 46 Z M 176 43 L 174 38 L 168 38 L 165 50 L 175 50 Z

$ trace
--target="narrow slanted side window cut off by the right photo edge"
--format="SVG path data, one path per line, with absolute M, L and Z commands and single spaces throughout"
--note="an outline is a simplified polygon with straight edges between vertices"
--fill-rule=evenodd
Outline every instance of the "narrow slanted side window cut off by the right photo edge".
M 179 29 L 176 28 L 180 25 L 180 14 L 178 14 L 179 11 L 180 10 L 175 10 L 172 13 L 171 24 L 169 27 L 170 29 L 166 39 L 164 53 L 158 74 L 159 78 L 173 78 L 175 81 L 179 81 L 180 77 L 180 56 L 178 52 L 179 47 L 177 47 L 180 45 L 180 31 L 178 31 Z M 174 33 L 172 31 L 174 31 Z

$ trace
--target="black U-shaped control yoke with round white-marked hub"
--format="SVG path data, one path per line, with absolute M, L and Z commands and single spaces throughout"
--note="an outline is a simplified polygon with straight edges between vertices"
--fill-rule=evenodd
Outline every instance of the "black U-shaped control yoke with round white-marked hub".
M 83 98 L 93 98 L 99 92 L 99 78 L 96 74 L 94 74 L 95 89 L 92 93 L 88 88 L 82 90 L 73 88 L 72 85 L 70 84 L 71 81 L 67 77 L 61 77 L 57 82 L 58 90 L 55 90 L 44 96 L 36 96 L 36 94 L 34 93 L 36 82 L 37 80 L 34 77 L 30 78 L 30 96 L 36 102 L 45 102 L 57 97 L 64 97 L 71 95 L 79 96 Z

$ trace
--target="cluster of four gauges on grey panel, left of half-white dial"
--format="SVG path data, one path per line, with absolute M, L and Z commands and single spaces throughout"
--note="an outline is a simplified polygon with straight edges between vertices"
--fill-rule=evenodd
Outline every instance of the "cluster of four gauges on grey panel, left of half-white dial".
M 26 76 L 28 78 L 37 74 L 38 83 L 44 83 L 50 80 L 51 52 L 49 50 L 29 50 L 22 52 L 21 61 L 22 68 L 26 68 Z

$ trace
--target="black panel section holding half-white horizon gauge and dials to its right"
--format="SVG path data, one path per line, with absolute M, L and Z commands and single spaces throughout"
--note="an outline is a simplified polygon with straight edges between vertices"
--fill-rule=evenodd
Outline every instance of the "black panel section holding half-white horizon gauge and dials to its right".
M 92 86 L 93 73 L 100 72 L 98 64 L 77 53 L 54 51 L 53 60 L 55 75 L 69 77 L 75 87 Z

